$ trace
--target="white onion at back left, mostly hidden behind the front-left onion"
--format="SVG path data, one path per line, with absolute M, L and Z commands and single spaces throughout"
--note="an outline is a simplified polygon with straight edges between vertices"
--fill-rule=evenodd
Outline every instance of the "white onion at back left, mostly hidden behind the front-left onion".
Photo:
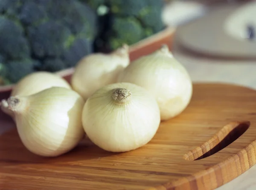
M 53 86 L 71 89 L 70 84 L 59 75 L 41 71 L 31 73 L 20 79 L 20 81 L 18 81 L 13 87 L 11 96 L 32 95 Z M 3 112 L 13 117 L 12 111 L 8 109 L 6 100 L 2 100 L 0 107 Z

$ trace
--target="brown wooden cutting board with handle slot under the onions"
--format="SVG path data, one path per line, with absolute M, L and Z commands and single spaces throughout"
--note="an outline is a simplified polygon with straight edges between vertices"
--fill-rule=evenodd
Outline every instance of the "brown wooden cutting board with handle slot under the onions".
M 256 91 L 193 87 L 187 109 L 162 122 L 150 143 L 127 153 L 84 140 L 70 153 L 42 158 L 23 147 L 16 130 L 6 132 L 0 136 L 0 190 L 211 190 L 231 181 L 256 163 Z

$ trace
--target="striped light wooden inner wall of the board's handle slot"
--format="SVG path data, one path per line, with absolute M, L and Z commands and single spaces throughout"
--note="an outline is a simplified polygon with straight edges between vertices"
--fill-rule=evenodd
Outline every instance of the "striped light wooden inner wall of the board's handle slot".
M 239 125 L 250 126 L 250 121 L 234 121 L 221 128 L 209 141 L 202 144 L 200 147 L 186 153 L 183 158 L 187 161 L 194 161 L 201 157 L 205 153 L 216 147 L 232 130 L 234 130 Z

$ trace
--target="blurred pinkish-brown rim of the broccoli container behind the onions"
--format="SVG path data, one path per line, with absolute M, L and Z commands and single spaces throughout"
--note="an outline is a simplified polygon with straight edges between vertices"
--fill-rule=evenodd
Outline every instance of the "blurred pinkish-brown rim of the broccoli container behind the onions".
M 151 35 L 150 37 L 147 37 L 143 40 L 140 40 L 139 42 L 134 43 L 133 45 L 130 45 L 129 46 L 129 53 L 131 54 L 133 52 L 136 52 L 139 49 L 142 49 L 145 46 L 150 46 L 151 44 L 154 44 L 158 40 L 161 40 L 165 37 L 168 37 L 168 36 L 172 35 L 175 32 L 175 30 L 176 30 L 176 28 L 167 26 L 162 31 L 160 31 L 160 32 L 158 32 L 154 35 Z M 72 75 L 74 70 L 75 70 L 74 67 L 71 67 L 71 68 L 67 68 L 67 69 L 64 69 L 64 70 L 61 70 L 61 71 L 58 71 L 58 72 L 55 72 L 55 73 L 57 75 L 65 78 L 65 77 L 68 77 L 68 76 Z M 0 93 L 12 90 L 13 86 L 15 86 L 15 84 L 0 86 Z

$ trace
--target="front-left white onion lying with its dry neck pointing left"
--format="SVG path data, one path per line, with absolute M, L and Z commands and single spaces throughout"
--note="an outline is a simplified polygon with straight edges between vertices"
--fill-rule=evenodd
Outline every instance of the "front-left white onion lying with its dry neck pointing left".
M 11 96 L 6 102 L 22 143 L 32 153 L 58 156 L 84 137 L 84 100 L 71 89 L 51 87 L 33 95 Z

